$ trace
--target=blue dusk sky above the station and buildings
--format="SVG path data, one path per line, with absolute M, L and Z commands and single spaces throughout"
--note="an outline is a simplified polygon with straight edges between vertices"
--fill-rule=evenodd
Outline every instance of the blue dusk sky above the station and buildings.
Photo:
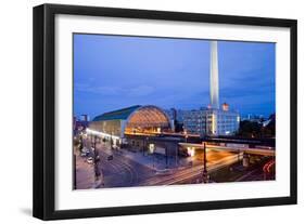
M 275 43 L 218 41 L 219 103 L 242 116 L 275 113 Z M 74 35 L 74 114 L 132 105 L 209 104 L 209 41 Z

